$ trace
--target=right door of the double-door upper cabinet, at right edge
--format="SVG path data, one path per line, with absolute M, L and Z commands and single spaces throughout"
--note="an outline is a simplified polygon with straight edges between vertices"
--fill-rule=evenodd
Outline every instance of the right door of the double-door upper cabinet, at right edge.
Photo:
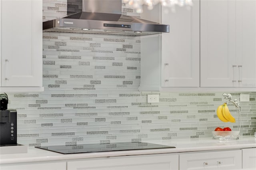
M 256 87 L 256 1 L 236 1 L 237 86 Z

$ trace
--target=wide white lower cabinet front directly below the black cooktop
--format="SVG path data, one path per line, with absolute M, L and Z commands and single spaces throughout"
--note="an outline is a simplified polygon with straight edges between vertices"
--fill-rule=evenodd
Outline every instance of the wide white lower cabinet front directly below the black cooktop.
M 178 155 L 115 156 L 68 161 L 67 170 L 178 170 Z

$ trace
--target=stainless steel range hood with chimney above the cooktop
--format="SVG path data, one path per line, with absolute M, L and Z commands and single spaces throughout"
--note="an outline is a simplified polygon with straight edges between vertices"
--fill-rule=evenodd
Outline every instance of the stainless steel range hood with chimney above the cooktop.
M 43 31 L 124 36 L 169 32 L 169 25 L 122 15 L 122 0 L 68 0 L 67 11 L 64 18 L 43 22 Z

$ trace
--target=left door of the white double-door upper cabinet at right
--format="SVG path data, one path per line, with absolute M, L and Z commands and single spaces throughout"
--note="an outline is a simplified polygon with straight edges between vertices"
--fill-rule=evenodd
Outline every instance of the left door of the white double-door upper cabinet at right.
M 200 87 L 236 85 L 236 1 L 200 4 Z

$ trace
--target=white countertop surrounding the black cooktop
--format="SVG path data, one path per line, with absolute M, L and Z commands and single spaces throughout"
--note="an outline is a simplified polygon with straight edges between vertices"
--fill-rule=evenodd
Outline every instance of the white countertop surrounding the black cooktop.
M 148 149 L 148 150 L 127 150 L 127 151 L 110 151 L 96 153 L 79 153 L 79 154 L 59 154 L 34 147 L 28 147 L 28 153 L 23 154 L 1 154 L 0 164 L 18 163 L 18 162 L 37 162 L 52 160 L 70 160 L 81 158 L 97 158 L 109 156 L 125 156 L 140 154 L 160 154 L 175 152 L 190 152 L 203 150 L 223 150 L 223 149 L 240 149 L 256 147 L 256 137 L 241 136 L 239 140 L 213 140 L 212 138 L 196 138 L 184 140 L 160 140 L 160 141 L 143 141 L 154 144 L 163 144 L 175 146 L 176 148 L 166 149 Z

